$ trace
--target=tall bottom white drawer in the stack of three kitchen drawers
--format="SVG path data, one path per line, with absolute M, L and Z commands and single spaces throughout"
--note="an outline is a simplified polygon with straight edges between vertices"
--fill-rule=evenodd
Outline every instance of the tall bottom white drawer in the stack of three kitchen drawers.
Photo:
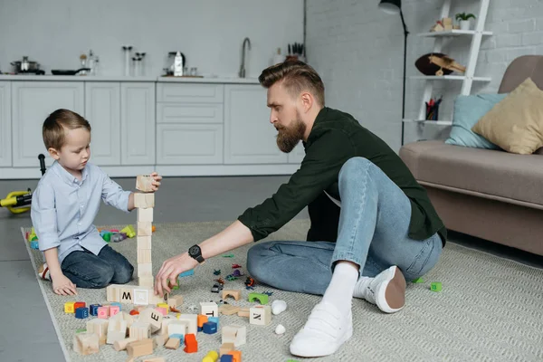
M 223 164 L 223 125 L 157 125 L 157 165 Z

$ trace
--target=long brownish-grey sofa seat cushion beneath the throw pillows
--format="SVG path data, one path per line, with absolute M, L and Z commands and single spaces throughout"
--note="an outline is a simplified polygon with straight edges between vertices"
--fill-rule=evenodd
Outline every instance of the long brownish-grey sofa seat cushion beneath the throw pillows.
M 402 147 L 400 157 L 417 181 L 543 206 L 540 155 L 421 141 Z

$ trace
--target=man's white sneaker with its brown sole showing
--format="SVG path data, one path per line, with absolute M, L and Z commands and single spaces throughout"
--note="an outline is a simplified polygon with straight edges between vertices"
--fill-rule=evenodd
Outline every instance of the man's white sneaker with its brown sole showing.
M 405 278 L 400 268 L 393 265 L 375 278 L 360 277 L 353 297 L 376 304 L 385 313 L 395 313 L 405 306 Z

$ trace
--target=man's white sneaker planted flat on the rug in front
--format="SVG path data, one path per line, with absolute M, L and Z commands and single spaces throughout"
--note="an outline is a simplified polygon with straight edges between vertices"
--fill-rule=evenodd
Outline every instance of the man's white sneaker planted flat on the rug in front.
M 322 357 L 335 353 L 353 335 L 353 315 L 343 316 L 329 302 L 313 308 L 305 326 L 292 338 L 291 354 L 299 357 Z

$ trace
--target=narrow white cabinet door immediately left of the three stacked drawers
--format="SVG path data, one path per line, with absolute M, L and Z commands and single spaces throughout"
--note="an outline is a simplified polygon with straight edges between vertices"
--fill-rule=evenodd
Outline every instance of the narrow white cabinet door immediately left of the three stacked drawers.
M 122 165 L 155 165 L 155 83 L 120 83 Z

